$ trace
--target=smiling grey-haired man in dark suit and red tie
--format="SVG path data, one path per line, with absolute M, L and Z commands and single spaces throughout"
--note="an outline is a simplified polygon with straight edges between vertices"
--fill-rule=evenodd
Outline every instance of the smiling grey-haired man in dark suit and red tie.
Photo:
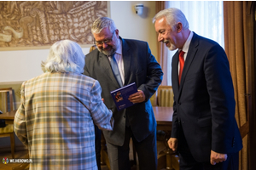
M 158 41 L 170 50 L 174 93 L 172 136 L 181 169 L 238 169 L 241 135 L 235 119 L 229 60 L 217 42 L 189 31 L 177 8 L 154 16 Z

